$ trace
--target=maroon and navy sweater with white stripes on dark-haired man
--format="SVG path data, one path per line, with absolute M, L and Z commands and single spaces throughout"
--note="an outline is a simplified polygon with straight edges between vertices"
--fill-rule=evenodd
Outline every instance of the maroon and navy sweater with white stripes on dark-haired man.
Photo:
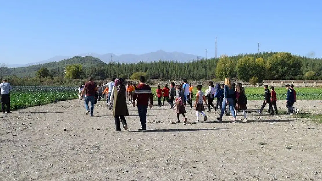
M 153 104 L 153 94 L 151 87 L 147 84 L 139 84 L 134 90 L 133 101 L 137 100 L 137 105 Z

